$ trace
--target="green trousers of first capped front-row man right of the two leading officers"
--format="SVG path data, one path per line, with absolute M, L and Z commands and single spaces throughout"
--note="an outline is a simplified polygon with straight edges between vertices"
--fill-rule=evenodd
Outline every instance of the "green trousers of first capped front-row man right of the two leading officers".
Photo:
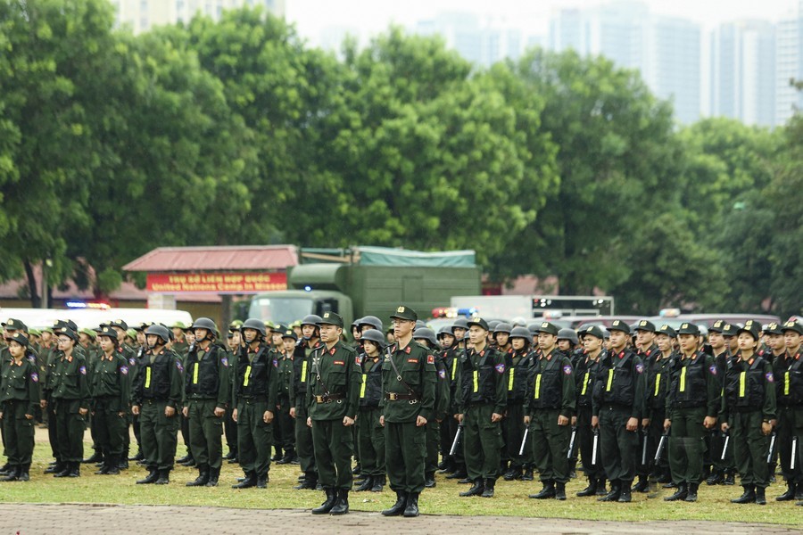
M 472 405 L 463 413 L 463 454 L 471 480 L 499 476 L 501 463 L 501 423 L 492 422 L 493 405 Z

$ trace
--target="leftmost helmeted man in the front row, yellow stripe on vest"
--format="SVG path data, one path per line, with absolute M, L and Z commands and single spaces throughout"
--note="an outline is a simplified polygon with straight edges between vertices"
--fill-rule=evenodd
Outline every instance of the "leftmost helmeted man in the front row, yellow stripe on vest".
M 142 449 L 149 473 L 137 483 L 166 485 L 170 483 L 176 457 L 184 366 L 174 351 L 165 348 L 170 342 L 167 327 L 151 325 L 145 336 L 148 350 L 141 364 L 131 411 L 140 416 Z

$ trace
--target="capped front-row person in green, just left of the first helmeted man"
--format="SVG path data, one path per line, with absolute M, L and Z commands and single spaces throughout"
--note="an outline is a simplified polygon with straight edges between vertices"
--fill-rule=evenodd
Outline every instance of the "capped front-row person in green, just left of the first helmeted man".
M 120 473 L 125 435 L 128 432 L 128 406 L 131 385 L 128 360 L 118 342 L 117 332 L 103 325 L 97 333 L 102 351 L 92 372 L 92 418 L 103 465 L 96 474 Z

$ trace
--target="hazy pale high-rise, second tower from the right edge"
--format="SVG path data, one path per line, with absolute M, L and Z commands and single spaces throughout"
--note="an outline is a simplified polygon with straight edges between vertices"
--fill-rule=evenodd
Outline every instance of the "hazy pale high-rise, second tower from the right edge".
M 711 115 L 773 126 L 775 79 L 771 22 L 729 22 L 712 33 Z

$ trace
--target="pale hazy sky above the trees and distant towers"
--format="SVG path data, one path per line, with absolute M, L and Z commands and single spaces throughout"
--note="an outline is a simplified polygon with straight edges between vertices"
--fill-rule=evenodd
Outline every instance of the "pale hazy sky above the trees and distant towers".
M 286 18 L 303 37 L 317 43 L 331 27 L 357 29 L 362 37 L 383 31 L 391 23 L 411 26 L 439 12 L 474 12 L 493 16 L 526 35 L 544 35 L 550 12 L 588 8 L 600 0 L 286 0 Z M 775 21 L 799 0 L 643 0 L 652 12 L 700 22 L 705 28 L 723 21 L 758 18 Z

